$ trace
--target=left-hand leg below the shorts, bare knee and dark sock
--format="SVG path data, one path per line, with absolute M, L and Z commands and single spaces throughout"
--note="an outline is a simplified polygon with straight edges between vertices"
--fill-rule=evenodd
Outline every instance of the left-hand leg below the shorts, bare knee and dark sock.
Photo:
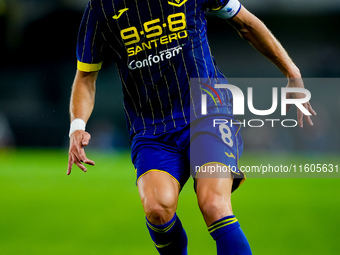
M 179 183 L 169 174 L 151 171 L 138 181 L 150 236 L 161 255 L 187 255 L 188 239 L 177 217 Z

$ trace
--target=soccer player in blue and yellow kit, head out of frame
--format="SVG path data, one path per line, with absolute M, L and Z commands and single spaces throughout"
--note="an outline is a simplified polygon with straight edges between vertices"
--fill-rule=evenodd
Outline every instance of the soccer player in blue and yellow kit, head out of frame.
M 214 107 L 214 98 L 208 101 L 208 117 L 202 115 L 191 93 L 196 86 L 191 79 L 198 79 L 199 91 L 212 94 L 216 92 L 213 85 L 224 78 L 211 56 L 207 12 L 233 25 L 283 72 L 290 81 L 288 86 L 304 87 L 299 69 L 280 43 L 238 0 L 92 0 L 78 35 L 67 174 L 73 164 L 84 172 L 83 163 L 94 165 L 84 152 L 90 141 L 85 124 L 94 107 L 103 56 L 110 55 L 122 81 L 146 225 L 160 254 L 187 254 L 187 236 L 176 208 L 190 168 L 237 166 L 242 153 L 237 126 L 209 127 L 211 116 L 233 120 L 230 91 L 218 91 L 223 107 Z M 299 93 L 291 96 L 303 97 Z M 303 106 L 315 114 L 309 103 Z M 298 109 L 300 126 L 303 116 Z M 312 125 L 309 115 L 305 119 Z M 251 254 L 230 202 L 232 191 L 243 181 L 242 173 L 236 170 L 223 178 L 205 178 L 198 172 L 193 177 L 199 208 L 216 240 L 217 254 Z

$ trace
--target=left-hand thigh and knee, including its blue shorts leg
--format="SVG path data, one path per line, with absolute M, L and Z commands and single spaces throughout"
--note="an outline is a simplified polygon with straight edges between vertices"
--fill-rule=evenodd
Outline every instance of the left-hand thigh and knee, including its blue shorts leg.
M 132 143 L 132 161 L 144 212 L 156 225 L 172 219 L 181 187 L 189 177 L 189 171 L 184 169 L 183 155 L 161 138 L 144 137 Z

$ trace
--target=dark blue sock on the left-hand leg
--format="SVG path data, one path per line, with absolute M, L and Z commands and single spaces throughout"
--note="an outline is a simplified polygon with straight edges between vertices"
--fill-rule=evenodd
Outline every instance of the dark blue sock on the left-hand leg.
M 174 217 L 163 225 L 154 225 L 146 219 L 152 241 L 161 255 L 187 255 L 188 239 L 180 219 Z

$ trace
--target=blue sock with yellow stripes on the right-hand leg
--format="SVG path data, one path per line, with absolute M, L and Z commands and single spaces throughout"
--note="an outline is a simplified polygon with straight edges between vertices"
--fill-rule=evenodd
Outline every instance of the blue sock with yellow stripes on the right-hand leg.
M 251 249 L 234 215 L 215 221 L 208 227 L 216 241 L 217 255 L 250 255 Z

